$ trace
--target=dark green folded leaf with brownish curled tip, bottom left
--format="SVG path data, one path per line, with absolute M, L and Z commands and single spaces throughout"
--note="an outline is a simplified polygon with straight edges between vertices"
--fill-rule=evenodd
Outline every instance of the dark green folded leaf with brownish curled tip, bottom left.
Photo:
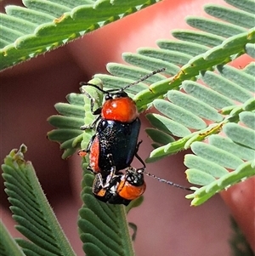
M 18 223 L 16 228 L 29 240 L 16 241 L 26 255 L 75 255 L 43 194 L 31 162 L 24 159 L 25 152 L 26 146 L 21 145 L 19 151 L 11 151 L 6 156 L 2 165 L 5 191 Z

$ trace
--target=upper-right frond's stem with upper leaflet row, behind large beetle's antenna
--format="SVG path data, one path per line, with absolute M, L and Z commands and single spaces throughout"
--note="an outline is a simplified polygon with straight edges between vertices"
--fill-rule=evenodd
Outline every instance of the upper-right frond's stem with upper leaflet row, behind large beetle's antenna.
M 216 17 L 220 12 L 222 20 L 229 22 L 235 20 L 235 18 L 230 19 L 234 14 L 239 14 L 243 19 L 250 21 L 246 21 L 246 27 L 243 27 L 234 26 L 224 21 L 190 17 L 187 19 L 188 23 L 202 31 L 175 30 L 172 31 L 173 37 L 180 39 L 179 41 L 161 39 L 157 41 L 160 48 L 139 48 L 137 54 L 124 53 L 123 60 L 137 66 L 137 68 L 133 68 L 133 72 L 127 71 L 127 69 L 132 69 L 130 65 L 112 63 L 107 65 L 107 70 L 113 76 L 122 78 L 133 77 L 135 70 L 138 71 L 138 67 L 140 75 L 142 72 L 159 69 L 162 66 L 167 67 L 166 75 L 173 76 L 178 73 L 169 81 L 162 80 L 150 84 L 150 88 L 137 94 L 135 100 L 137 100 L 140 110 L 150 104 L 151 100 L 166 94 L 169 89 L 181 86 L 184 80 L 195 80 L 201 71 L 213 70 L 216 65 L 223 65 L 235 60 L 241 54 L 246 53 L 247 45 L 254 45 L 255 30 L 250 13 L 215 4 L 207 5 L 205 10 Z M 227 34 L 225 34 L 226 31 Z M 110 76 L 97 74 L 96 77 L 99 77 L 107 88 L 116 88 L 117 82 L 112 82 L 113 78 L 111 79 Z

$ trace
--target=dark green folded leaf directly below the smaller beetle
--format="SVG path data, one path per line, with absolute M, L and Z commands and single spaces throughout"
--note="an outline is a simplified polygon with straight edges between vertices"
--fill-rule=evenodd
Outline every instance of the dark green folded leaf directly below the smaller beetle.
M 79 211 L 79 233 L 86 255 L 134 255 L 126 209 L 122 205 L 100 202 L 92 194 L 94 174 L 83 162 L 83 205 Z

